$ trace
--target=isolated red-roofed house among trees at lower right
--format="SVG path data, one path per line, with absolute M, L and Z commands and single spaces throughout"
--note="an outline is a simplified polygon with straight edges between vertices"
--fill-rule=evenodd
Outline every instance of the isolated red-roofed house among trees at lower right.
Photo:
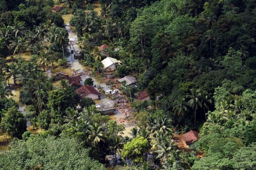
M 199 139 L 199 132 L 194 130 L 189 131 L 185 135 L 182 136 L 183 143 L 187 146 L 188 149 L 194 149 Z

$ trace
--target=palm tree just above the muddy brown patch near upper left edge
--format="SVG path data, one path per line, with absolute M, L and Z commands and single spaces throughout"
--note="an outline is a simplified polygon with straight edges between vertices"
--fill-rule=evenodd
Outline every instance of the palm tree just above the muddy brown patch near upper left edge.
M 26 43 L 24 37 L 15 37 L 13 40 L 10 41 L 10 50 L 13 51 L 13 55 L 18 52 L 20 55 L 20 52 L 26 51 Z

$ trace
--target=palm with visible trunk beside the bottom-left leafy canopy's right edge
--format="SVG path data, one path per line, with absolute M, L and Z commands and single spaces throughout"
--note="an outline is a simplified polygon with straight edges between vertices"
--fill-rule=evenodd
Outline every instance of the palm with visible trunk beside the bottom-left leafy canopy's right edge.
M 89 134 L 88 136 L 88 140 L 89 141 L 93 141 L 93 145 L 96 147 L 96 145 L 98 145 L 98 143 L 100 141 L 104 141 L 103 138 L 107 138 L 108 136 L 106 135 L 106 132 L 102 131 L 101 126 L 98 125 L 98 123 L 94 123 L 92 125 L 89 126 L 89 129 L 87 130 L 87 133 Z M 99 149 L 99 156 L 101 158 L 101 150 L 100 147 L 98 145 L 98 149 Z

